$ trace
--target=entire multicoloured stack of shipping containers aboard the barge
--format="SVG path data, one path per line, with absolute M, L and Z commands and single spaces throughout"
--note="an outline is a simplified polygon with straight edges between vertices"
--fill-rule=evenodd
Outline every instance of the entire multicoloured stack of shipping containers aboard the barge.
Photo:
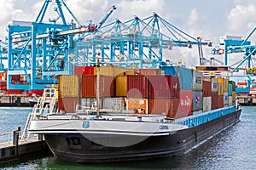
M 236 83 L 224 78 L 203 77 L 202 72 L 183 66 L 160 69 L 131 69 L 102 66 L 100 103 L 102 109 L 165 114 L 181 118 L 235 105 Z M 96 107 L 96 78 L 93 66 L 74 67 L 76 75 L 59 76 L 59 110 L 76 111 Z

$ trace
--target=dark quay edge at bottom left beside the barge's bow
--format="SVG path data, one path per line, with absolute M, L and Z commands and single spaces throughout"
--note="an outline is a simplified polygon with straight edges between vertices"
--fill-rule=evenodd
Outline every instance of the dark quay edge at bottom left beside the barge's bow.
M 0 142 L 0 164 L 40 154 L 50 154 L 43 135 L 20 139 L 19 133 L 19 131 L 14 131 L 12 141 Z

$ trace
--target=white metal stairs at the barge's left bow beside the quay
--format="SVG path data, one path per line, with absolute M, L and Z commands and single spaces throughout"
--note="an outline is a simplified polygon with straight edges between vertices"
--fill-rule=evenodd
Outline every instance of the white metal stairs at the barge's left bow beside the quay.
M 47 116 L 53 114 L 55 111 L 55 105 L 57 101 L 57 88 L 44 88 L 44 94 L 42 97 L 38 98 L 38 103 L 34 105 L 33 110 L 26 119 L 26 124 L 23 129 L 21 139 L 28 138 L 30 133 L 28 133 L 28 128 L 30 127 L 30 122 L 32 119 L 37 119 L 38 116 Z M 49 101 L 49 105 L 45 105 L 45 102 Z M 44 111 L 44 114 L 42 114 Z

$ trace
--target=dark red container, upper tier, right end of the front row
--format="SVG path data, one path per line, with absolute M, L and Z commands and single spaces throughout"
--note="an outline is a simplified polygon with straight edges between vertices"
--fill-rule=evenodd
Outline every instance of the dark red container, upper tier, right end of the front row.
M 149 76 L 150 98 L 178 98 L 178 77 L 174 76 Z

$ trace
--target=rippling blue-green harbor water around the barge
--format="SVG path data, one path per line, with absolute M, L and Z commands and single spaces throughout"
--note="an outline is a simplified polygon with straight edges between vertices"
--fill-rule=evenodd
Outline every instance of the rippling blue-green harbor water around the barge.
M 167 156 L 150 161 L 108 164 L 78 164 L 61 161 L 55 156 L 0 165 L 0 169 L 253 169 L 256 167 L 256 107 L 243 106 L 240 122 L 182 156 Z M 32 108 L 0 108 L 0 134 L 24 127 Z M 0 140 L 7 140 L 7 135 Z

